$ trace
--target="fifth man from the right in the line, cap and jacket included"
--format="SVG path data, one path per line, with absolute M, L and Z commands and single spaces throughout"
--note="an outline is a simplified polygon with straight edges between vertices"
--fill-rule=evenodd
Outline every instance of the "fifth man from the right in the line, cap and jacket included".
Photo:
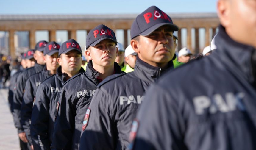
M 30 146 L 32 146 L 32 139 L 30 136 L 30 122 L 35 93 L 43 80 L 53 74 L 56 74 L 57 68 L 59 67 L 57 62 L 59 48 L 60 45 L 54 41 L 48 43 L 43 49 L 43 60 L 46 65 L 42 71 L 30 76 L 26 81 L 23 101 L 21 105 L 21 125 L 26 133 L 26 137 Z

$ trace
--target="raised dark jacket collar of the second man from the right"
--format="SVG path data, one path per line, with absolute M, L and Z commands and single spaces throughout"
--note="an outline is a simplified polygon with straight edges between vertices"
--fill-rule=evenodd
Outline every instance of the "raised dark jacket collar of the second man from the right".
M 155 82 L 165 71 L 173 68 L 172 60 L 168 62 L 167 69 L 161 69 L 159 67 L 154 67 L 148 63 L 142 61 L 138 56 L 134 68 L 134 74 L 146 82 Z

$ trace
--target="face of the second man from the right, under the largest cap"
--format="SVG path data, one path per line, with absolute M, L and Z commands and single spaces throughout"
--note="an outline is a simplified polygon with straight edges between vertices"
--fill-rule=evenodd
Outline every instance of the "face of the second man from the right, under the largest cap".
M 147 36 L 140 35 L 137 43 L 137 49 L 133 49 L 152 66 L 165 66 L 174 56 L 173 31 L 169 26 L 161 26 Z

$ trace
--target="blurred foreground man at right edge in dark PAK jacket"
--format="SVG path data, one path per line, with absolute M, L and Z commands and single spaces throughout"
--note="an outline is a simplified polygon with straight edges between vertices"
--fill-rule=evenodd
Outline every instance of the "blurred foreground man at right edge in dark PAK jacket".
M 218 0 L 218 49 L 149 89 L 134 149 L 256 149 L 255 6 Z

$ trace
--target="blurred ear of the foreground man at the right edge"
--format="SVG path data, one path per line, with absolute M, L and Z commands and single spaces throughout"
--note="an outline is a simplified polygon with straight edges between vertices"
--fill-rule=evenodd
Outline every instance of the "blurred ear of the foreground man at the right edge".
M 217 12 L 221 25 L 224 27 L 230 26 L 231 1 L 218 0 Z

